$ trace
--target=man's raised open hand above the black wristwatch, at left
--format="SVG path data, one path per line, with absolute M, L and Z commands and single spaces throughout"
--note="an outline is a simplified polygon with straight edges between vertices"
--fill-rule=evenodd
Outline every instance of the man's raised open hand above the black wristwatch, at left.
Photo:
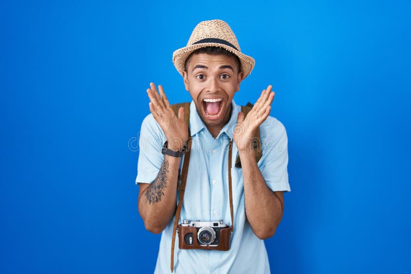
M 174 151 L 182 150 L 185 141 L 188 139 L 188 128 L 184 122 L 184 108 L 178 110 L 178 117 L 170 107 L 169 100 L 165 96 L 163 87 L 150 83 L 147 89 L 148 98 L 150 98 L 150 111 L 154 119 L 163 130 L 167 141 L 168 148 Z

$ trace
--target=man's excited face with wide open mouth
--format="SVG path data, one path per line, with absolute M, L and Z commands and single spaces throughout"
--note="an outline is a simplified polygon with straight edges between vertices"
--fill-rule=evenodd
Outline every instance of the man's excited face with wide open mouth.
M 230 120 L 231 102 L 240 89 L 243 73 L 238 72 L 234 57 L 193 54 L 183 71 L 185 89 L 206 126 L 221 130 Z

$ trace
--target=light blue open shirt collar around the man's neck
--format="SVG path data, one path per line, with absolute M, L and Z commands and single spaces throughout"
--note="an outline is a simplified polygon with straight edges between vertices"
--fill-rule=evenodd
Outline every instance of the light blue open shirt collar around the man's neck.
M 220 133 L 218 134 L 217 138 L 222 134 L 226 133 L 227 136 L 230 138 L 230 140 L 233 139 L 234 135 L 234 129 L 235 126 L 237 125 L 237 116 L 238 112 L 240 112 L 240 106 L 237 106 L 237 104 L 234 102 L 234 100 L 231 102 L 231 117 L 228 123 L 222 127 Z M 200 115 L 198 115 L 196 105 L 194 104 L 194 101 L 191 101 L 190 104 L 190 131 L 191 131 L 191 136 L 194 136 L 197 134 L 199 131 L 202 129 L 206 129 L 206 124 L 201 120 Z

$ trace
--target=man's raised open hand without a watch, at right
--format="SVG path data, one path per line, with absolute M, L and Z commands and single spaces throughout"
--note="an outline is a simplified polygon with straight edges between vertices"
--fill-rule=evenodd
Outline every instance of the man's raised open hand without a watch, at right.
M 253 138 L 255 130 L 266 121 L 271 111 L 271 103 L 274 100 L 274 92 L 271 91 L 272 86 L 269 85 L 267 90 L 261 92 L 257 102 L 253 108 L 248 112 L 246 118 L 244 113 L 238 113 L 237 126 L 234 130 L 234 143 L 238 151 L 252 151 Z

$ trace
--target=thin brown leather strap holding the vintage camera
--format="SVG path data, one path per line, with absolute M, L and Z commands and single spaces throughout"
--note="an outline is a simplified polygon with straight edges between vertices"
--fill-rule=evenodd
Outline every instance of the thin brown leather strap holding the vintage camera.
M 190 135 L 190 131 L 189 131 Z M 174 270 L 174 245 L 176 242 L 176 233 L 177 233 L 177 225 L 178 220 L 180 219 L 181 208 L 183 206 L 183 199 L 184 199 L 184 191 L 185 191 L 185 183 L 187 182 L 187 175 L 189 173 L 189 163 L 190 163 L 190 152 L 191 152 L 191 143 L 192 138 L 189 137 L 187 141 L 187 148 L 184 155 L 184 163 L 183 163 L 183 170 L 181 174 L 181 184 L 180 184 L 180 196 L 178 199 L 178 205 L 176 208 L 175 218 L 174 218 L 174 226 L 173 226 L 173 236 L 171 239 L 171 272 Z M 234 215 L 233 215 L 233 191 L 231 186 L 231 153 L 233 148 L 233 141 L 230 141 L 229 144 L 229 151 L 228 151 L 228 189 L 229 189 L 229 199 L 230 199 L 230 213 L 231 213 L 231 233 L 234 232 Z

